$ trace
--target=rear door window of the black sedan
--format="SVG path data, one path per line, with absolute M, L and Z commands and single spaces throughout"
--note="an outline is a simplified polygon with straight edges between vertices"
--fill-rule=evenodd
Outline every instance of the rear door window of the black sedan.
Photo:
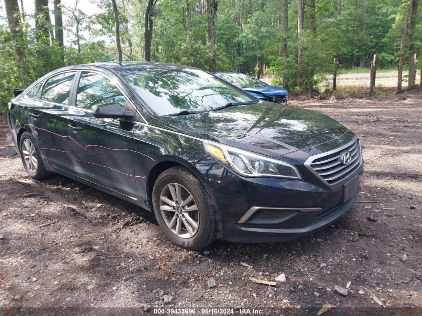
M 68 105 L 75 74 L 76 72 L 65 72 L 47 79 L 42 87 L 41 99 Z

